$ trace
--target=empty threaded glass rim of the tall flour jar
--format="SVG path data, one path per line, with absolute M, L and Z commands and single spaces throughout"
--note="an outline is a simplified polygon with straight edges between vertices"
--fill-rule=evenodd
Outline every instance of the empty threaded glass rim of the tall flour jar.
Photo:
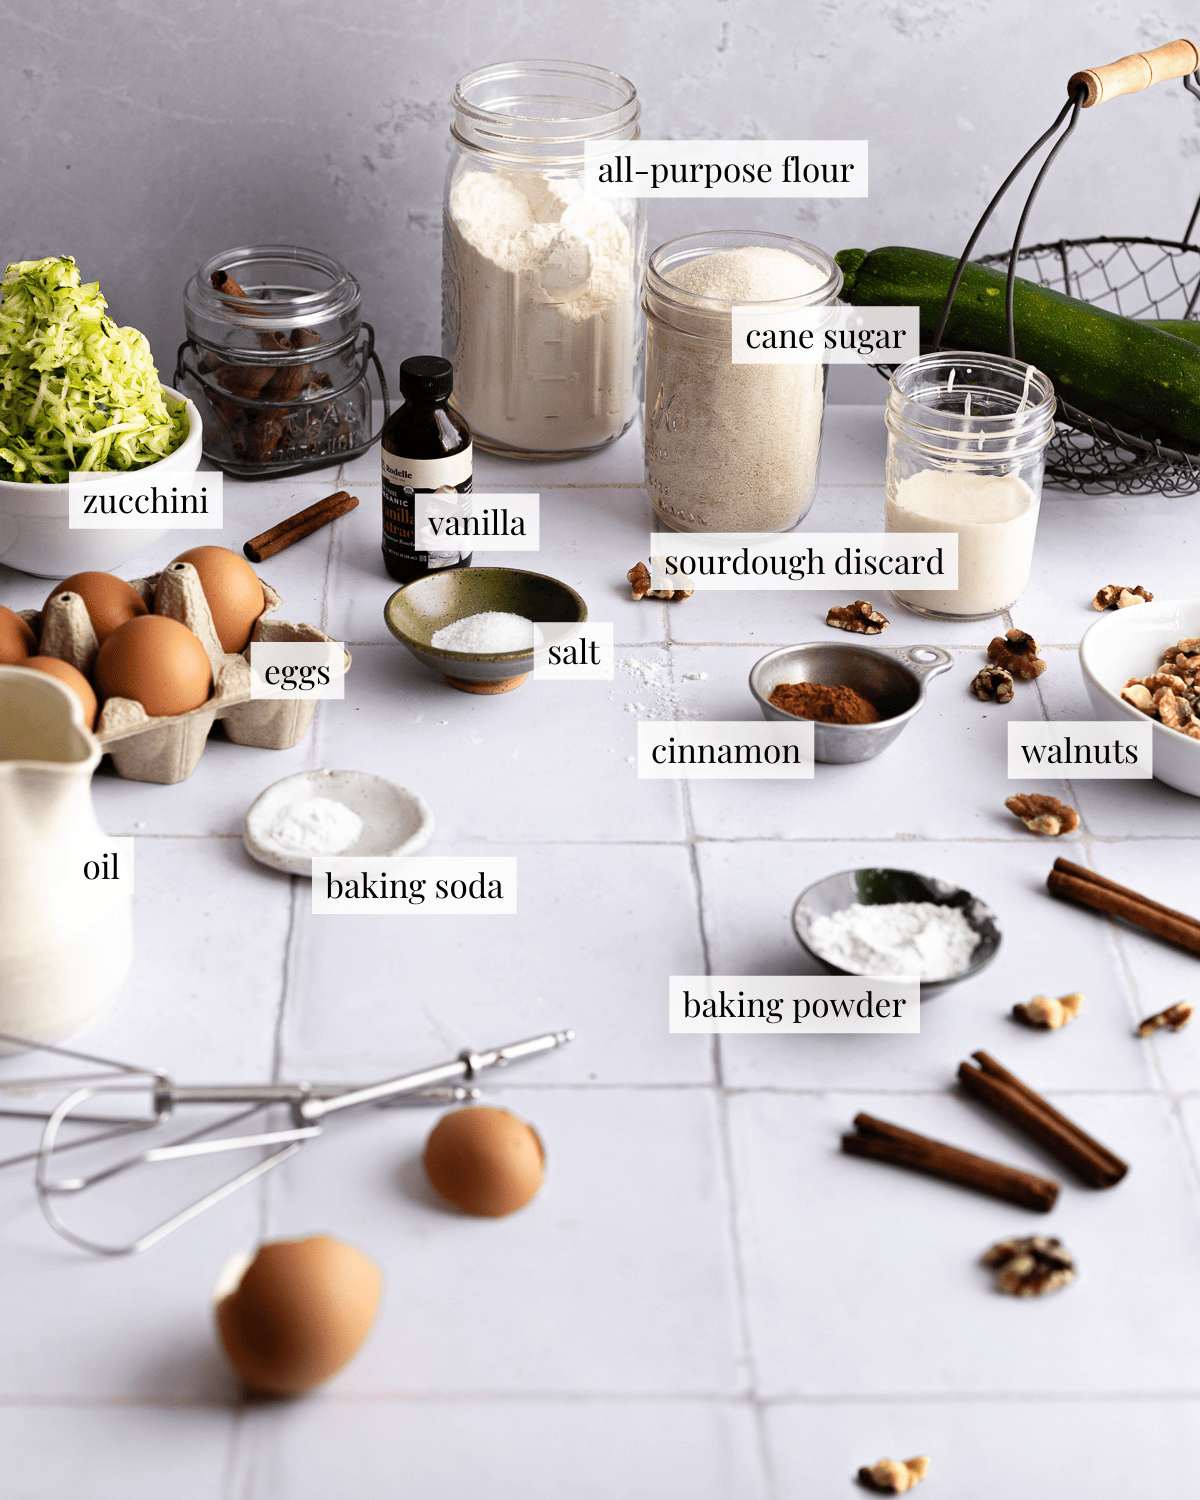
M 477 94 L 490 86 L 512 80 L 530 80 L 544 84 L 544 92 L 513 90 L 482 100 Z M 576 96 L 579 104 L 594 105 L 592 112 L 568 111 L 570 96 L 552 90 L 562 81 L 588 82 L 598 94 L 608 93 L 609 100 L 588 100 Z M 530 110 L 534 99 L 556 100 L 566 112 L 552 114 Z M 562 147 L 606 136 L 636 138 L 638 117 L 642 106 L 638 90 L 621 74 L 592 63 L 572 63 L 555 58 L 524 58 L 510 63 L 489 63 L 464 74 L 452 96 L 454 122 L 450 134 L 464 146 L 502 152 L 506 146 Z M 498 108 L 502 105 L 504 108 Z M 520 112 L 522 108 L 530 112 Z M 564 129 L 566 128 L 566 129 Z M 582 152 L 579 153 L 582 156 Z

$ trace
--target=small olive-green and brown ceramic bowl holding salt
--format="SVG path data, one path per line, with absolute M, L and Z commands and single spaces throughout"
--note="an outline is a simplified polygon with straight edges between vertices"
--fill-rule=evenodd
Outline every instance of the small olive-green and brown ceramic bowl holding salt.
M 405 584 L 384 604 L 387 628 L 460 693 L 508 693 L 532 670 L 540 624 L 582 624 L 567 584 L 514 567 L 464 567 Z

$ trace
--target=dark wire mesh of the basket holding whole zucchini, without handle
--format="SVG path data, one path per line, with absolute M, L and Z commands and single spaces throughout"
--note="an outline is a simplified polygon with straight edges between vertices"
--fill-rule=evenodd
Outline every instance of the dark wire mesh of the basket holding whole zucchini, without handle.
M 1200 210 L 1200 204 L 1197 204 Z M 1192 224 L 1196 213 L 1192 214 Z M 1054 240 L 1020 249 L 1026 280 L 1126 318 L 1196 320 L 1200 246 L 1149 237 Z M 1006 267 L 1010 250 L 981 255 L 981 266 Z M 1046 452 L 1046 478 L 1083 495 L 1194 495 L 1200 453 L 1170 448 L 1089 417 L 1059 396 L 1058 430 Z

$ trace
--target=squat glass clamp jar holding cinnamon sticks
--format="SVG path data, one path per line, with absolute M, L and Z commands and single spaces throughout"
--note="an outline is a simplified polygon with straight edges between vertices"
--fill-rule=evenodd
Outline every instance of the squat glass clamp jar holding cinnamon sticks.
M 260 478 L 370 447 L 372 364 L 384 417 L 388 400 L 360 302 L 344 266 L 300 246 L 242 246 L 200 267 L 183 290 L 176 388 L 200 408 L 207 459 Z

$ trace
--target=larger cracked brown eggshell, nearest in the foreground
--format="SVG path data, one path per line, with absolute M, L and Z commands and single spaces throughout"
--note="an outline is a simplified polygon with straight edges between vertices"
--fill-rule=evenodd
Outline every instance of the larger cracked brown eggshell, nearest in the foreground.
M 327 1234 L 279 1239 L 260 1245 L 228 1294 L 218 1287 L 218 1334 L 248 1386 L 297 1396 L 358 1353 L 381 1287 L 380 1268 L 352 1245 Z

